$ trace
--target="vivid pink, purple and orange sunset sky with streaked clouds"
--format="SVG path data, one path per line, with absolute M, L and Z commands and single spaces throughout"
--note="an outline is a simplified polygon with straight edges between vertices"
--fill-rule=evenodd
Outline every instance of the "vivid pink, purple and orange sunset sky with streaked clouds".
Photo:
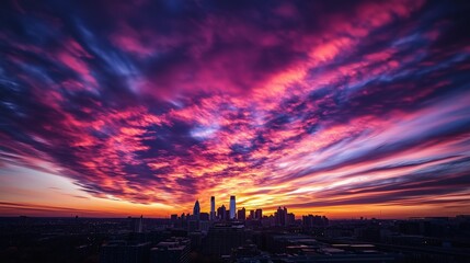
M 0 216 L 470 214 L 468 1 L 0 4 Z

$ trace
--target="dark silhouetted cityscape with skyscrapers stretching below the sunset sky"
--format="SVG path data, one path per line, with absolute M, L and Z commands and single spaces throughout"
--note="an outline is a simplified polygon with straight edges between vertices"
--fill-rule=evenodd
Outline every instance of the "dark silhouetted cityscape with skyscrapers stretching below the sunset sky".
M 279 206 L 170 218 L 0 218 L 1 262 L 469 262 L 470 215 L 409 219 L 296 218 Z

